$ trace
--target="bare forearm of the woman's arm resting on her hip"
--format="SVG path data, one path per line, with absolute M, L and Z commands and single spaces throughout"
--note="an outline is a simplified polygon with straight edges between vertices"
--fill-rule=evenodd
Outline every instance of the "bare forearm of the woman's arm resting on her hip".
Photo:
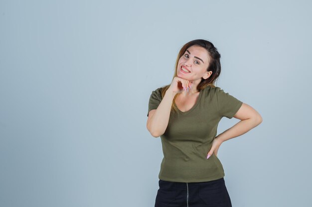
M 261 122 L 262 121 L 257 118 L 241 120 L 233 127 L 219 134 L 217 138 L 222 140 L 222 142 L 231 138 L 236 138 L 257 127 Z

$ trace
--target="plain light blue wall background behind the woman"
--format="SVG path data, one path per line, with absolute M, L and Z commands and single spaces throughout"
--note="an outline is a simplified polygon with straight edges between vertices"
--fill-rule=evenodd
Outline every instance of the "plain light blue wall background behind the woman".
M 0 1 L 0 206 L 154 207 L 152 90 L 211 41 L 263 122 L 218 157 L 233 207 L 310 207 L 312 3 Z M 218 134 L 239 120 L 223 118 Z

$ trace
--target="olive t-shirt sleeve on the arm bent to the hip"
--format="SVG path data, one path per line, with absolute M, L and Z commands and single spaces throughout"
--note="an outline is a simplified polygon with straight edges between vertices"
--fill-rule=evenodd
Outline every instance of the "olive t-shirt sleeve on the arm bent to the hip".
M 243 102 L 224 92 L 220 87 L 216 87 L 216 90 L 219 115 L 232 119 Z

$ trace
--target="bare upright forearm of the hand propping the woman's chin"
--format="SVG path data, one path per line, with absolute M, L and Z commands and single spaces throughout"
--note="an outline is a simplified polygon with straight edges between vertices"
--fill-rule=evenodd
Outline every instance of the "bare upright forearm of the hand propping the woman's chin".
M 165 132 L 169 122 L 174 95 L 174 93 L 167 90 L 155 113 L 151 117 L 151 120 L 148 123 L 148 129 L 153 137 L 159 137 Z

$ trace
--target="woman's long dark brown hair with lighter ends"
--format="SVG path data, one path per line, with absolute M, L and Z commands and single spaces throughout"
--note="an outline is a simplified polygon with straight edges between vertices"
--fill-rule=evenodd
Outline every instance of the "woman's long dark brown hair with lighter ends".
M 181 48 L 181 50 L 178 53 L 177 58 L 176 58 L 176 62 L 175 62 L 175 66 L 174 66 L 174 75 L 172 77 L 172 80 L 174 77 L 177 76 L 177 67 L 178 67 L 179 59 L 185 53 L 185 51 L 193 45 L 198 45 L 198 46 L 207 50 L 207 52 L 209 54 L 209 66 L 207 68 L 207 71 L 212 71 L 212 74 L 207 79 L 204 79 L 204 78 L 201 79 L 200 83 L 197 86 L 197 90 L 200 91 L 207 86 L 216 87 L 214 85 L 214 83 L 217 80 L 217 78 L 219 77 L 220 72 L 221 72 L 221 64 L 220 64 L 221 55 L 219 54 L 217 48 L 214 47 L 214 45 L 211 42 L 209 42 L 207 40 L 203 40 L 203 39 L 192 40 L 192 41 L 186 43 L 185 45 L 183 45 L 183 47 Z M 162 98 L 163 98 L 166 90 L 169 87 L 170 87 L 170 84 L 162 87 L 162 90 L 161 90 L 161 97 Z M 174 105 L 174 103 L 175 103 L 174 101 L 175 101 L 177 95 L 178 95 L 178 93 L 174 96 L 173 101 L 172 101 L 172 105 L 171 105 L 171 111 L 175 111 L 175 112 L 177 112 L 177 108 Z

